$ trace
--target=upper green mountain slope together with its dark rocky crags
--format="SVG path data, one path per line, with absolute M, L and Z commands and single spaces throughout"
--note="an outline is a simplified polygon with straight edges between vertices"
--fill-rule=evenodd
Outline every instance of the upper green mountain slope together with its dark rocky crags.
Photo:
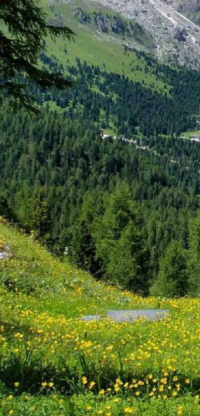
M 76 66 L 78 57 L 81 63 L 86 61 L 88 65 L 99 66 L 107 72 L 124 73 L 145 87 L 154 84 L 157 91 L 164 88 L 165 82 L 155 76 L 154 67 L 146 73 L 145 59 L 137 57 L 136 51 L 152 53 L 154 44 L 153 39 L 140 26 L 112 10 L 101 10 L 100 5 L 92 7 L 80 1 L 71 4 L 48 0 L 43 0 L 41 4 L 50 22 L 54 19 L 58 24 L 65 23 L 75 32 L 74 42 L 65 43 L 62 37 L 57 39 L 56 44 L 50 38 L 47 41 L 48 55 L 58 59 L 64 69 L 67 65 Z M 87 21 L 83 22 L 85 16 Z

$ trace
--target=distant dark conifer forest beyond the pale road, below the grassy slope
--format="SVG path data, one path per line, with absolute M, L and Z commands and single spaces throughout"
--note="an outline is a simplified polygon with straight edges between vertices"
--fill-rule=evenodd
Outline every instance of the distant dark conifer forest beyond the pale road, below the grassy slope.
M 127 54 L 132 54 L 125 48 Z M 164 87 L 158 92 L 152 81 L 149 87 L 114 72 L 102 71 L 76 59 L 76 67 L 67 67 L 75 79 L 75 86 L 67 91 L 36 93 L 38 104 L 50 101 L 65 110 L 69 118 L 81 123 L 99 123 L 99 128 L 111 128 L 116 135 L 130 139 L 135 132 L 149 137 L 152 134 L 180 134 L 197 128 L 200 108 L 200 72 L 171 69 L 143 52 L 135 52 L 138 69 L 154 74 Z M 43 63 L 54 71 L 63 71 L 63 65 L 41 53 Z M 144 68 L 143 67 L 144 65 Z M 130 69 L 132 69 L 130 67 Z M 54 107 L 53 107 L 54 108 Z

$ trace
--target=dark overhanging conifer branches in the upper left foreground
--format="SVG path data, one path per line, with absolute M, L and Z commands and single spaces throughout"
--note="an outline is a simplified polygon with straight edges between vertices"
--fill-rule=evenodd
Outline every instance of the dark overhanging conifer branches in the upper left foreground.
M 37 67 L 44 38 L 63 35 L 70 40 L 68 27 L 49 25 L 38 0 L 0 0 L 0 98 L 6 93 L 13 102 L 32 107 L 32 98 L 19 75 L 28 75 L 41 88 L 56 86 L 64 89 L 70 84 L 62 74 Z

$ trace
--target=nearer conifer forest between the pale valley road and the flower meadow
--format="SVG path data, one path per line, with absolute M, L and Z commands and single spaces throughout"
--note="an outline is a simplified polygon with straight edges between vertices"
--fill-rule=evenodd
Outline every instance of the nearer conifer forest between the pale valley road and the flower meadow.
M 52 251 L 67 247 L 97 278 L 148 293 L 170 241 L 189 248 L 199 143 L 159 135 L 136 144 L 102 139 L 89 120 L 48 109 L 42 117 L 13 115 L 6 105 L 0 131 L 1 213 Z

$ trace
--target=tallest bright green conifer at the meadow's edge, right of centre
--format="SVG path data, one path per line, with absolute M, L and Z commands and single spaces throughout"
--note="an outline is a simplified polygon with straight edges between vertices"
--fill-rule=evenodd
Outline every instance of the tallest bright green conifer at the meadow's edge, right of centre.
M 97 223 L 96 253 L 103 261 L 107 279 L 146 294 L 149 259 L 141 229 L 141 218 L 130 189 L 125 183 L 119 184 Z

